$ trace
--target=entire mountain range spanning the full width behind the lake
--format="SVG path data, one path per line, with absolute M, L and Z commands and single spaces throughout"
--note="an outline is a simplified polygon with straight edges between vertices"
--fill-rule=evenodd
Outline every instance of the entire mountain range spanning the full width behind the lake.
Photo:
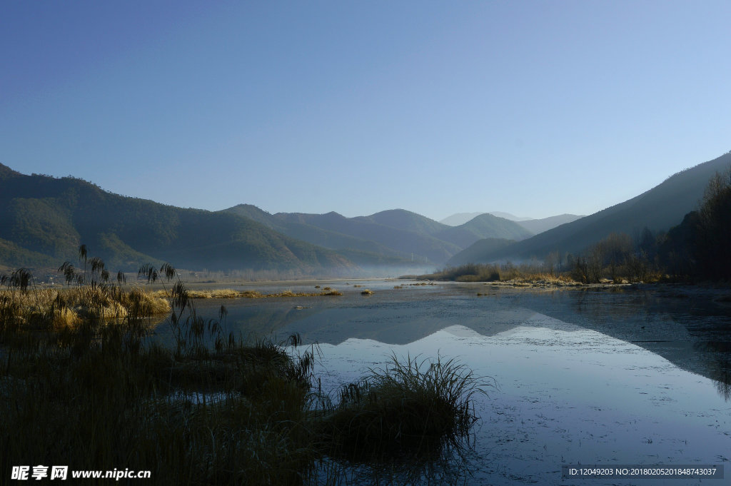
M 726 153 L 591 216 L 512 221 L 479 213 L 449 225 L 403 209 L 347 218 L 335 212 L 271 214 L 246 204 L 219 211 L 177 208 L 0 164 L 0 267 L 77 262 L 82 243 L 114 270 L 172 262 L 189 270 L 302 276 L 382 275 L 384 268 L 431 270 L 447 262 L 577 254 L 612 232 L 639 235 L 645 227 L 680 224 L 697 208 L 711 176 L 730 165 Z

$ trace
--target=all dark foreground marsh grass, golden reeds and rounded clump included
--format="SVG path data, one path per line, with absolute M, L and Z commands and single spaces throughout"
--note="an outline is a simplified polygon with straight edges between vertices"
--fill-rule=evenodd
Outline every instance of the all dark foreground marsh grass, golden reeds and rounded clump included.
M 476 419 L 478 381 L 453 361 L 394 360 L 333 404 L 313 385 L 317 346 L 302 349 L 299 335 L 244 342 L 227 333 L 224 306 L 218 319 L 197 314 L 172 267 L 144 270 L 169 283 L 164 295 L 88 279 L 0 292 L 0 471 L 66 464 L 150 470 L 156 485 L 305 485 L 368 470 L 379 483 L 377 457 L 396 451 L 398 470 L 423 474 Z M 172 346 L 151 339 L 159 311 Z

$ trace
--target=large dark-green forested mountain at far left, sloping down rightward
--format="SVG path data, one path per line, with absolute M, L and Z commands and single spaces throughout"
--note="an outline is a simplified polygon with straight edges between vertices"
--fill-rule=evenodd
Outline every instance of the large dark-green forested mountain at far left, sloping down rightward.
M 124 197 L 80 179 L 22 175 L 0 164 L 0 265 L 75 263 L 82 243 L 114 270 L 164 261 L 195 270 L 356 268 L 335 251 L 248 217 Z

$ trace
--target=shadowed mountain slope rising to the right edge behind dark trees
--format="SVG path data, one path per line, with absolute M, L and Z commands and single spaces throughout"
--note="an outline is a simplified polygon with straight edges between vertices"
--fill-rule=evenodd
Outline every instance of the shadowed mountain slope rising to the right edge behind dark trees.
M 639 235 L 643 228 L 667 230 L 697 208 L 708 181 L 731 165 L 731 152 L 683 170 L 653 189 L 591 216 L 562 224 L 527 240 L 482 254 L 482 261 L 545 257 L 553 251 L 580 253 L 613 232 Z

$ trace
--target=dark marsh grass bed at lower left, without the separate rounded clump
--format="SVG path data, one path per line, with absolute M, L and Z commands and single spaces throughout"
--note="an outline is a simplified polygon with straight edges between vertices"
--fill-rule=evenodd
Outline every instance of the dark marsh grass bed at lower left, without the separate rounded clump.
M 23 319 L 4 327 L 13 339 L 0 348 L 2 471 L 31 461 L 149 469 L 161 485 L 293 485 L 314 467 L 312 358 L 292 357 L 298 339 L 225 337 L 225 309 L 219 319 L 200 318 L 182 284 L 170 290 L 172 348 L 149 341 L 154 308 L 141 292 L 113 300 L 126 314 L 112 319 L 90 312 L 33 326 L 23 305 L 42 308 L 44 295 L 18 292 L 6 295 L 4 312 L 22 311 Z

